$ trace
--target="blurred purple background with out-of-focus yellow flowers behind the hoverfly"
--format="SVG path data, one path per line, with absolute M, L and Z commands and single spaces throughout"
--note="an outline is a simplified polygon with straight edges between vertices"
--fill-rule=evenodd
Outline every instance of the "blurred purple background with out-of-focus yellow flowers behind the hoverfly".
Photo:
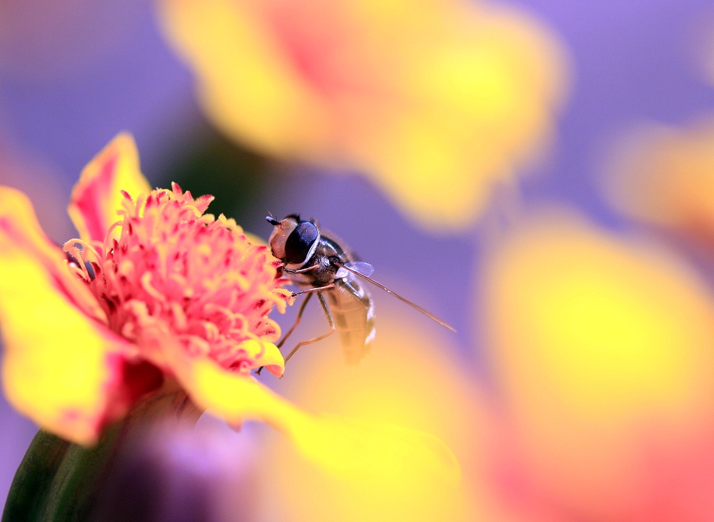
M 329 339 L 261 376 L 446 440 L 453 518 L 714 519 L 710 1 L 0 0 L 0 184 L 58 244 L 123 130 L 152 185 L 265 239 L 314 217 L 456 328 L 375 289 L 362 365 Z M 36 427 L 0 418 L 4 499 Z M 355 500 L 301 501 L 332 483 L 261 433 L 222 435 L 268 473 L 246 519 Z

